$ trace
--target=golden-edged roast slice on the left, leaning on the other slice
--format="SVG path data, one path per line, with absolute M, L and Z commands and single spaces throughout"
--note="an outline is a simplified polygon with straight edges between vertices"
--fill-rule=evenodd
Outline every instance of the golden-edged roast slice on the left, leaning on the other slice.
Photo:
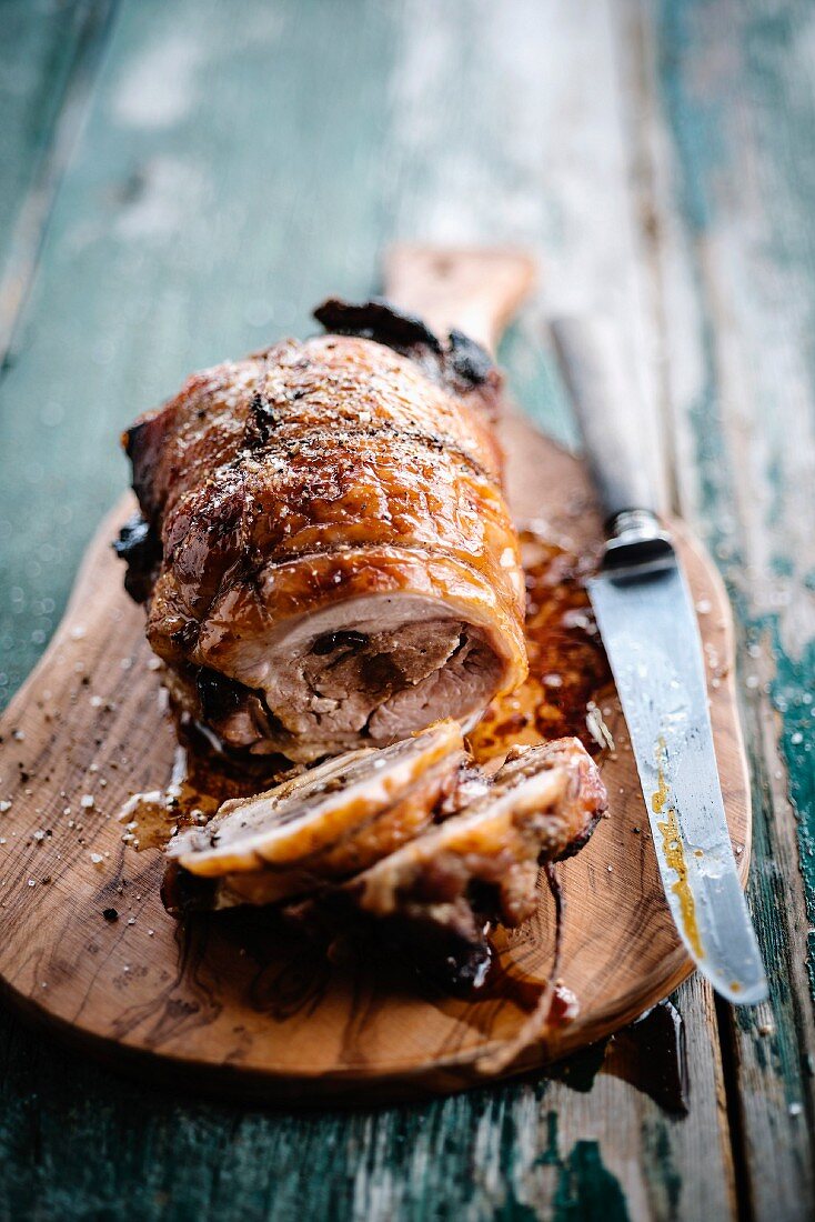
M 463 760 L 461 727 L 445 721 L 226 802 L 205 827 L 167 846 L 177 863 L 165 887 L 170 907 L 194 907 L 197 896 L 199 907 L 275 903 L 364 870 L 426 827 Z M 196 890 L 180 871 L 217 886 Z

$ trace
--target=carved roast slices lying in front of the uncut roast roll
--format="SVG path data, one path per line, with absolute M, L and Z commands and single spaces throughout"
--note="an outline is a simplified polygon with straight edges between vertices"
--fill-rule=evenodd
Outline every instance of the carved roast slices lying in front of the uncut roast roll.
M 510 752 L 489 777 L 455 721 L 226 802 L 167 846 L 165 907 L 282 906 L 330 945 L 373 927 L 448 985 L 478 985 L 486 930 L 535 912 L 539 865 L 576 853 L 606 809 L 577 738 Z

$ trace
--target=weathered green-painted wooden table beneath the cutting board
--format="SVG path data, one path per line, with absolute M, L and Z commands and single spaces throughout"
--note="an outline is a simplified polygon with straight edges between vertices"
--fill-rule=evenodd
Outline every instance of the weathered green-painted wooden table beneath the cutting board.
M 811 1216 L 814 20 L 802 0 L 2 4 L 4 699 L 139 409 L 308 331 L 326 292 L 367 295 L 395 237 L 530 246 L 540 292 L 502 352 L 517 397 L 571 441 L 544 319 L 626 318 L 655 462 L 737 607 L 771 1001 L 679 990 L 684 1119 L 607 1072 L 226 1107 L 4 1014 L 0 1218 Z

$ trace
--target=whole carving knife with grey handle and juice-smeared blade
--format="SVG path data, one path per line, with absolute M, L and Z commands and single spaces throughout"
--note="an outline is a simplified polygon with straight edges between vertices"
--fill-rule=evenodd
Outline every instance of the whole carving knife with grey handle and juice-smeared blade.
M 632 415 L 635 380 L 607 320 L 552 334 L 607 541 L 589 596 L 622 701 L 665 895 L 679 936 L 734 1004 L 767 996 L 731 847 L 696 613 Z

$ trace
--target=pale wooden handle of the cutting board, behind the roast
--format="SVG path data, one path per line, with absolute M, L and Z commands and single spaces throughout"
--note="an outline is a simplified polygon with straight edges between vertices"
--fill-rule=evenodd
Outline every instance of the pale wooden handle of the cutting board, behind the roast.
M 419 314 L 434 331 L 456 327 L 495 352 L 529 295 L 535 262 L 502 247 L 398 243 L 385 255 L 385 296 Z

